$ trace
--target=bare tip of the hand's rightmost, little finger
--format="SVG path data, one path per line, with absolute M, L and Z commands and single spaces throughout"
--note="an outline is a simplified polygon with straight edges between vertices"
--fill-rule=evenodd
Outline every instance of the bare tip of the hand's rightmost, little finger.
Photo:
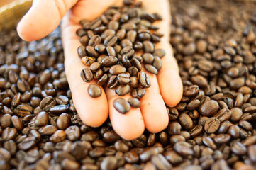
M 172 69 L 166 69 L 158 75 L 162 98 L 169 107 L 176 106 L 182 99 L 183 86 L 179 74 Z

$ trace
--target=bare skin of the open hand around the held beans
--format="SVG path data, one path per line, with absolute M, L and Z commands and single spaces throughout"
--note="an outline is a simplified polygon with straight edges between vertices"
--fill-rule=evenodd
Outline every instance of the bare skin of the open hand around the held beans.
M 140 108 L 131 108 L 126 114 L 121 114 L 113 108 L 113 101 L 118 98 L 128 100 L 130 94 L 118 96 L 114 90 L 102 89 L 98 98 L 91 98 L 87 93 L 89 84 L 80 77 L 80 72 L 86 66 L 77 55 L 79 37 L 76 30 L 81 28 L 79 21 L 92 21 L 101 16 L 111 5 L 121 5 L 122 0 L 34 0 L 33 6 L 18 23 L 18 35 L 23 40 L 33 41 L 44 38 L 55 30 L 61 23 L 62 44 L 65 52 L 65 73 L 72 91 L 72 99 L 81 120 L 89 126 L 98 127 L 106 119 L 111 120 L 113 130 L 123 139 L 133 140 L 143 134 L 145 128 L 152 133 L 164 130 L 168 123 L 168 113 L 165 103 L 169 107 L 176 106 L 182 98 L 182 80 L 179 68 L 173 57 L 172 47 L 169 45 L 170 11 L 168 0 L 142 0 L 149 13 L 160 13 L 163 20 L 154 23 L 159 31 L 164 33 L 161 42 L 155 48 L 165 49 L 162 57 L 162 69 L 157 75 L 150 74 L 151 86 L 146 89 L 145 96 L 140 99 Z

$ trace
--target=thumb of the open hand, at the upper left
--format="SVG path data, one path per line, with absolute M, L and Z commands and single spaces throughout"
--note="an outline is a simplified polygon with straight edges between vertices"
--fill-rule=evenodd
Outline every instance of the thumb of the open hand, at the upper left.
M 18 23 L 18 35 L 26 41 L 39 40 L 60 24 L 65 13 L 78 0 L 34 0 L 33 5 Z

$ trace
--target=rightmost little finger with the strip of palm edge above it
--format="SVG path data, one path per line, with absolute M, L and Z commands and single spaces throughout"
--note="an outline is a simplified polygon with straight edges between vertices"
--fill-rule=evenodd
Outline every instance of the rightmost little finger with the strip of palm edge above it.
M 160 43 L 157 43 L 157 48 L 165 50 L 166 55 L 162 57 L 162 68 L 157 74 L 160 92 L 165 103 L 169 107 L 176 106 L 182 98 L 183 86 L 182 80 L 179 77 L 179 67 L 177 61 L 173 57 L 172 47 L 169 45 L 170 37 L 170 10 L 169 1 L 167 0 L 143 0 L 147 6 L 147 11 L 150 13 L 160 13 L 162 21 L 157 21 L 154 25 L 159 26 L 159 31 L 164 33 Z

